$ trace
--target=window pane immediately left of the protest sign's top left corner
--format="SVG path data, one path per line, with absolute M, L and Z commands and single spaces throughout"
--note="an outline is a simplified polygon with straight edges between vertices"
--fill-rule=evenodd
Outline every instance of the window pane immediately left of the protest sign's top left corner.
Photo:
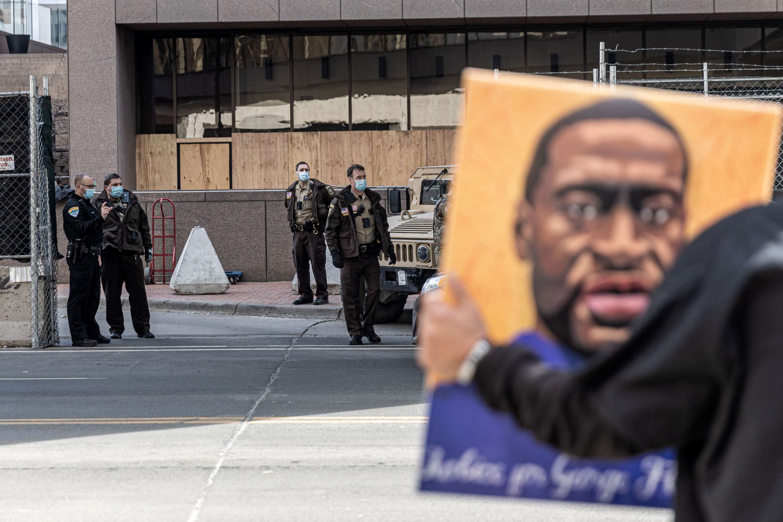
M 459 123 L 465 63 L 464 33 L 410 35 L 411 128 L 453 128 Z

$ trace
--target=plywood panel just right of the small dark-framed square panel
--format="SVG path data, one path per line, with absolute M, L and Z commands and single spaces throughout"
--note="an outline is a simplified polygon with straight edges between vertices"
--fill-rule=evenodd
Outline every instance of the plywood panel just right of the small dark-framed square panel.
M 288 132 L 233 135 L 233 188 L 285 189 L 293 182 L 288 168 Z

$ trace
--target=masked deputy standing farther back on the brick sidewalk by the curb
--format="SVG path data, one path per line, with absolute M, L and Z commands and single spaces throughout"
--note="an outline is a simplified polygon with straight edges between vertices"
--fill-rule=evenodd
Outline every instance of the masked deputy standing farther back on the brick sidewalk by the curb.
M 298 181 L 286 189 L 288 223 L 294 232 L 294 268 L 298 280 L 299 298 L 294 304 L 327 304 L 327 243 L 323 229 L 327 226 L 327 206 L 334 189 L 310 178 L 310 166 L 296 164 Z M 316 276 L 316 300 L 312 300 L 310 267 Z

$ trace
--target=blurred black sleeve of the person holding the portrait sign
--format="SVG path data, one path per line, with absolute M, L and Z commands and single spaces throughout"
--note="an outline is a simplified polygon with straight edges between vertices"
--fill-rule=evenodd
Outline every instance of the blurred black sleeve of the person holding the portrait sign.
M 704 437 L 729 379 L 723 349 L 742 289 L 736 264 L 703 266 L 710 252 L 681 254 L 626 344 L 579 373 L 549 369 L 521 347 L 491 352 L 474 378 L 482 397 L 539 440 L 583 457 Z

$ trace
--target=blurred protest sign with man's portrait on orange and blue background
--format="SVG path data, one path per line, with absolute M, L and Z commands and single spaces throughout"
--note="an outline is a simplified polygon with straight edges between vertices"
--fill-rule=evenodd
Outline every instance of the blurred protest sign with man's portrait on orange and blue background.
M 447 277 L 493 344 L 548 365 L 579 369 L 622 343 L 691 239 L 770 200 L 775 106 L 478 70 L 463 84 Z M 670 449 L 576 459 L 472 387 L 432 394 L 425 491 L 666 507 L 676 471 Z

